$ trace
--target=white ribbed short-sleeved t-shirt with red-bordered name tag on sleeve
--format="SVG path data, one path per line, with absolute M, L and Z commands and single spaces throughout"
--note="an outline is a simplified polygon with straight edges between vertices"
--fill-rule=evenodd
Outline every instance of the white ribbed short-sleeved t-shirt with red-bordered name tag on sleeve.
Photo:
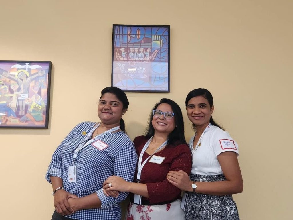
M 200 146 L 193 149 L 193 138 L 189 141 L 192 152 L 192 174 L 220 175 L 223 174 L 217 156 L 225 151 L 234 151 L 239 155 L 238 144 L 229 135 L 217 126 L 211 126 L 200 141 Z M 196 143 L 195 143 L 196 144 Z

